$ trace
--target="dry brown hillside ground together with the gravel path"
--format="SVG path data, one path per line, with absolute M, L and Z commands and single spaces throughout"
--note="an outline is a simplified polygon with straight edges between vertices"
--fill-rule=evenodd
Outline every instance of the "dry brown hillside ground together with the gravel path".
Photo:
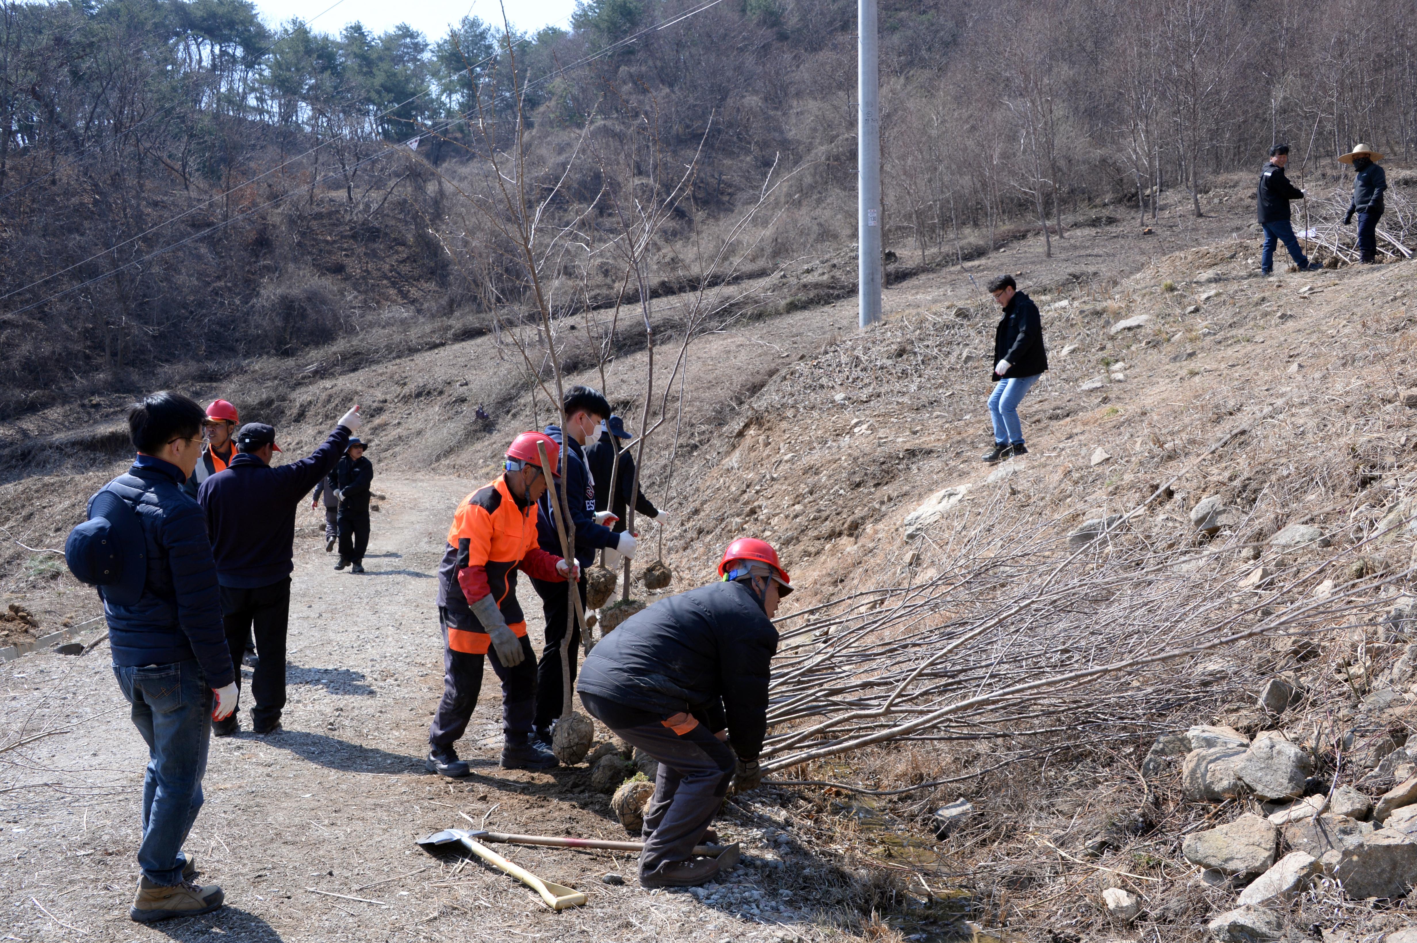
M 942 616 L 921 607 L 931 600 L 945 600 L 952 619 L 993 605 L 1009 586 L 988 573 L 1016 564 L 1022 548 L 1050 565 L 1078 561 L 1067 571 L 1078 590 L 1019 615 L 1027 631 L 1013 648 L 982 653 L 1003 673 L 1019 651 L 1047 647 L 1066 609 L 1081 613 L 1077 637 L 1091 644 L 1112 627 L 1134 631 L 1158 588 L 1180 600 L 1165 609 L 1173 634 L 1263 630 L 1098 688 L 1108 698 L 1135 691 L 1105 724 L 1097 718 L 1108 704 L 1090 701 L 1084 687 L 1064 719 L 1087 724 L 1063 733 L 927 738 L 777 773 L 778 786 L 731 801 L 721 830 L 745 842 L 750 867 L 708 893 L 602 884 L 601 874 L 623 871 L 622 858 L 513 850 L 592 896 L 582 910 L 551 915 L 529 910 L 523 892 L 490 872 L 425 859 L 411 845 L 462 821 L 459 811 L 509 831 L 623 837 L 585 767 L 507 775 L 487 762 L 472 782 L 448 786 L 418 762 L 438 690 L 429 575 L 446 514 L 495 471 L 510 433 L 546 419 L 531 413 L 513 351 L 480 337 L 371 355 L 356 372 L 296 375 L 272 360 L 194 388 L 203 398 L 230 394 L 244 418 L 276 422 L 292 455 L 349 402 L 366 404 L 374 488 L 384 496 L 366 578 L 330 569 L 316 518 L 302 511 L 288 732 L 244 735 L 213 752 L 196 844 L 231 906 L 211 926 L 251 939 L 476 936 L 489 918 L 551 937 L 574 926 L 591 939 L 1207 939 L 1207 923 L 1237 906 L 1253 874 L 1203 869 L 1197 859 L 1209 852 L 1195 835 L 1264 831 L 1246 816 L 1287 813 L 1292 821 L 1264 833 L 1271 859 L 1323 848 L 1302 830 L 1301 803 L 1243 786 L 1209 794 L 1189 772 L 1192 755 L 1229 745 L 1248 756 L 1277 733 L 1308 758 L 1299 791 L 1332 794 L 1340 801 L 1326 813 L 1342 808 L 1353 821 L 1413 776 L 1403 763 L 1414 699 L 1407 646 L 1417 640 L 1401 613 L 1407 522 L 1417 515 L 1406 457 L 1417 443 L 1417 395 L 1404 395 L 1417 387 L 1417 269 L 1260 278 L 1246 190 L 1247 181 L 1217 190 L 1213 215 L 1149 236 L 1127 225 L 1073 228 L 1051 258 L 1034 235 L 964 269 L 915 275 L 887 292 L 886 323 L 864 333 L 843 300 L 782 304 L 693 343 L 677 447 L 656 433 L 646 463 L 646 491 L 674 520 L 663 532 L 646 524 L 642 535 L 655 551 L 662 539 L 674 572 L 665 592 L 710 579 L 734 535 L 777 542 L 799 586 L 781 620 L 784 665 L 826 651 L 852 619 L 920 612 L 934 622 Z M 833 261 L 843 262 L 802 261 L 788 280 Z M 982 280 L 999 268 L 1020 272 L 1044 309 L 1051 370 L 1020 408 L 1030 455 L 988 467 L 978 455 L 990 442 L 983 399 L 996 309 L 965 273 Z M 672 303 L 663 317 L 670 350 Z M 669 379 L 663 360 L 659 388 Z M 632 426 L 645 362 L 626 334 L 625 353 L 605 368 Z M 601 382 L 594 367 L 574 378 Z M 62 542 L 84 498 L 122 464 L 120 402 L 98 396 L 0 426 L 10 474 L 0 486 L 6 602 L 37 615 L 44 630 L 96 615 L 92 593 L 51 555 L 13 541 Z M 677 396 L 669 402 L 676 415 Z M 475 418 L 479 405 L 489 419 Z M 956 501 L 942 496 L 951 488 Z M 1197 517 L 1207 498 L 1213 514 Z M 1315 535 L 1287 542 L 1305 527 Z M 1033 579 L 1022 566 L 1009 572 Z M 968 578 L 951 588 L 959 573 Z M 1098 586 L 1111 586 L 1105 599 Z M 653 600 L 642 586 L 635 595 Z M 845 602 L 809 612 L 833 600 Z M 900 644 L 911 630 L 890 631 Z M 92 626 L 81 634 L 95 637 Z M 961 650 L 955 667 L 972 671 L 979 657 Z M 1282 702 L 1274 680 L 1288 685 Z M 1261 691 L 1268 709 L 1257 704 Z M 67 731 L 0 753 L 0 789 L 14 790 L 6 841 L 18 864 L 3 886 L 24 913 L 16 933 L 48 939 L 62 922 L 98 939 L 147 935 L 119 910 L 142 762 L 102 646 L 0 665 L 0 692 L 6 728 Z M 487 698 L 473 725 L 478 745 L 495 742 Z M 930 784 L 938 780 L 952 782 Z M 934 813 L 959 799 L 971 811 L 945 828 Z M 1390 827 L 1403 820 L 1393 816 Z M 1104 891 L 1132 895 L 1138 915 L 1110 909 Z M 1295 940 L 1389 933 L 1399 943 L 1393 935 L 1408 923 L 1406 899 L 1355 901 L 1332 881 L 1264 908 L 1274 933 Z

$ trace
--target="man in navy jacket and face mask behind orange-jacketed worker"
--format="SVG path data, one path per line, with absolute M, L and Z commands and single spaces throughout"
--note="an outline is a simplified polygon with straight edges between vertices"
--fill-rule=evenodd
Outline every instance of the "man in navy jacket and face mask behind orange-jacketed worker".
M 575 562 L 581 565 L 581 578 L 577 581 L 575 592 L 581 595 L 581 606 L 585 606 L 585 568 L 595 562 L 595 551 L 609 547 L 625 556 L 635 556 L 635 538 L 631 534 L 615 534 L 608 527 L 595 522 L 595 483 L 585 467 L 584 445 L 595 426 L 611 415 L 611 405 L 605 402 L 598 391 L 589 387 L 571 387 L 565 391 L 563 402 L 565 412 L 567 436 L 561 435 L 558 426 L 547 426 L 546 435 L 561 447 L 567 447 L 565 456 L 565 494 L 570 501 L 570 518 L 565 522 L 567 534 L 575 534 L 572 554 Z M 560 469 L 557 469 L 560 471 Z M 561 483 L 557 481 L 538 503 L 537 544 L 551 555 L 561 554 L 561 537 L 557 534 L 555 521 L 551 518 L 551 496 L 555 494 L 554 507 L 561 504 Z M 563 518 L 565 521 L 565 518 Z M 531 586 L 541 598 L 541 613 L 546 617 L 546 644 L 541 647 L 541 660 L 536 670 L 536 739 L 546 746 L 551 745 L 551 722 L 561 716 L 565 694 L 561 680 L 561 640 L 565 639 L 567 623 L 570 622 L 571 643 L 567 647 L 567 663 L 571 670 L 571 680 L 575 680 L 575 665 L 580 657 L 581 626 L 571 612 L 570 592 L 563 582 L 547 582 L 531 578 Z

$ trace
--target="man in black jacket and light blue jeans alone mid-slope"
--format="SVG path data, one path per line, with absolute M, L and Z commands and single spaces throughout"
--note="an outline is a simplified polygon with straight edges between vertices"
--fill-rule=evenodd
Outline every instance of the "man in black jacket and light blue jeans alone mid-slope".
M 1019 290 L 1013 276 L 1000 275 L 989 282 L 989 295 L 1003 309 L 993 331 L 995 384 L 993 394 L 989 395 L 993 449 L 983 453 L 983 460 L 993 463 L 1029 453 L 1023 445 L 1019 404 L 1049 368 L 1049 354 L 1043 348 L 1039 306 Z

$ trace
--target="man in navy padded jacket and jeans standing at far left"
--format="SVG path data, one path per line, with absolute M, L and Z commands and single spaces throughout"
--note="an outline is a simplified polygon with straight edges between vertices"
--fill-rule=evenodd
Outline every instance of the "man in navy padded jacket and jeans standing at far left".
M 201 406 L 187 396 L 147 396 L 128 415 L 137 460 L 105 487 L 136 513 L 146 538 L 142 595 L 133 605 L 103 602 L 113 674 L 149 753 L 137 847 L 142 878 L 129 910 L 142 923 L 207 913 L 222 903 L 221 888 L 193 881 L 196 865 L 181 851 L 203 803 L 211 719 L 235 709 L 239 670 L 221 630 L 201 510 L 181 490 L 201 455 Z

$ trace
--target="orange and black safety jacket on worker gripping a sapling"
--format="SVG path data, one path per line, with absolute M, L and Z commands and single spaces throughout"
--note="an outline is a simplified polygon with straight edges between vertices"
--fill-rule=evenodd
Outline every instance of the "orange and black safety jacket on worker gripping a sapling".
M 497 477 L 459 504 L 448 528 L 448 547 L 438 568 L 438 607 L 448 627 L 448 647 L 466 654 L 487 654 L 492 637 L 469 603 L 490 595 L 517 637 L 527 634 L 517 602 L 517 571 L 548 582 L 565 582 L 555 572 L 561 562 L 537 547 L 537 507 L 521 504 Z

